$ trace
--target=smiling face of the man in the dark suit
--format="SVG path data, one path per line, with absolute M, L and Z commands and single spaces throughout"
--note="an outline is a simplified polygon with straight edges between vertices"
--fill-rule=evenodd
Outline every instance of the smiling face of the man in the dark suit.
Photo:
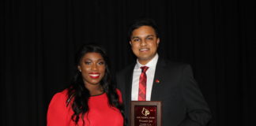
M 135 29 L 130 36 L 130 46 L 141 65 L 147 64 L 155 55 L 160 39 L 150 26 Z

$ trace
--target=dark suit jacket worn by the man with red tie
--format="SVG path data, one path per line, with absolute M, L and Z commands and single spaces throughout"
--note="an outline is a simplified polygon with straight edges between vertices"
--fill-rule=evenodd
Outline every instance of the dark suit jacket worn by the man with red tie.
M 135 63 L 118 72 L 116 76 L 128 123 L 134 66 Z M 160 83 L 156 83 L 156 80 Z M 151 101 L 162 101 L 162 126 L 204 126 L 211 119 L 209 107 L 194 80 L 190 65 L 159 58 Z

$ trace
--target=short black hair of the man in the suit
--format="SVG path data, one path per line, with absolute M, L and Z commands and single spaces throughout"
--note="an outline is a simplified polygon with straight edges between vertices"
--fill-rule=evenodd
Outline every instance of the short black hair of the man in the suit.
M 156 22 L 152 19 L 139 19 L 134 20 L 134 23 L 130 25 L 129 31 L 128 31 L 128 39 L 130 40 L 130 37 L 133 33 L 133 31 L 137 28 L 140 28 L 141 26 L 150 26 L 155 30 L 156 38 L 159 38 L 159 28 L 156 25 Z

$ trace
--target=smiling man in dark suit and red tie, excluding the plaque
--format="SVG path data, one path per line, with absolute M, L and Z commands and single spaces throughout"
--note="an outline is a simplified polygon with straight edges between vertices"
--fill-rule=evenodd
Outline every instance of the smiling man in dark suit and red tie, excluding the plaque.
M 209 107 L 190 65 L 171 62 L 157 54 L 160 38 L 154 21 L 137 20 L 130 27 L 129 34 L 137 62 L 116 76 L 128 123 L 131 101 L 161 101 L 163 126 L 208 124 L 211 119 Z

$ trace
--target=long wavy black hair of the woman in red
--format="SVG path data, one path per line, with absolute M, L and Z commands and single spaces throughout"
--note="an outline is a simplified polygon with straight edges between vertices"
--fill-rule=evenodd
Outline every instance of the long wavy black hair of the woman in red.
M 119 95 L 116 92 L 115 84 L 111 80 L 111 74 L 109 69 L 109 61 L 106 52 L 95 45 L 85 45 L 81 46 L 81 49 L 78 50 L 75 63 L 76 66 L 80 64 L 81 58 L 85 56 L 87 53 L 99 53 L 105 61 L 105 75 L 103 79 L 100 81 L 101 87 L 103 87 L 104 92 L 107 94 L 108 104 L 120 110 L 122 113 L 122 117 L 124 117 L 123 106 L 119 102 Z M 77 68 L 77 67 L 76 67 Z M 73 109 L 73 115 L 71 119 L 77 124 L 78 120 L 83 120 L 83 124 L 85 124 L 84 116 L 85 113 L 88 112 L 88 98 L 90 97 L 90 92 L 85 87 L 83 82 L 81 72 L 76 70 L 75 75 L 73 76 L 73 81 L 71 86 L 68 88 L 68 98 L 66 100 L 66 106 L 71 106 Z M 125 122 L 125 120 L 124 120 Z

